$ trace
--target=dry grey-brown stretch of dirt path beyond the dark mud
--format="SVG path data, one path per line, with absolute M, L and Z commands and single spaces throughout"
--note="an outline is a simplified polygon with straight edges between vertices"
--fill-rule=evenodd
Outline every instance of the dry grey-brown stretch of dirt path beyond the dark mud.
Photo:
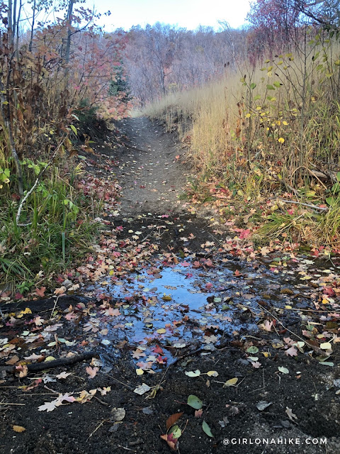
M 186 176 L 180 163 L 183 150 L 174 135 L 148 118 L 125 119 L 119 126 L 129 139 L 129 148 L 121 155 L 123 168 L 118 172 L 123 186 L 121 214 L 169 214 L 178 210 L 177 195 L 183 192 Z

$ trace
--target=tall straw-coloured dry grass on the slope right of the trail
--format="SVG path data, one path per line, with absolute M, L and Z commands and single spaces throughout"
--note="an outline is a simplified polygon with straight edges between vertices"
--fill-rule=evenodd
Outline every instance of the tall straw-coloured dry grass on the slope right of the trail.
M 288 192 L 297 201 L 326 204 L 333 195 L 325 216 L 306 218 L 305 234 L 298 225 L 300 237 L 334 243 L 340 210 L 340 187 L 334 187 L 340 165 L 340 52 L 326 38 L 255 68 L 244 64 L 214 84 L 169 94 L 143 114 L 176 128 L 190 145 L 201 180 L 222 182 L 242 203 Z M 277 233 L 273 228 L 271 236 Z

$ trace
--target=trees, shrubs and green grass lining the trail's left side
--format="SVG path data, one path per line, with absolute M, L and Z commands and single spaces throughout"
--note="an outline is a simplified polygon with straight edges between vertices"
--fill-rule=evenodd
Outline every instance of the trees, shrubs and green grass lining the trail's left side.
M 130 101 L 113 90 L 124 33 L 103 33 L 83 4 L 0 3 L 0 292 L 50 281 L 97 228 L 100 188 L 84 189 L 77 156 L 91 153 L 89 123 L 126 116 Z

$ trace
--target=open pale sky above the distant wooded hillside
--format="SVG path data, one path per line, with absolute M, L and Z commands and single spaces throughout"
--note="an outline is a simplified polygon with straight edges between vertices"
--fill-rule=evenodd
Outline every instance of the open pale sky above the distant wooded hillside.
M 159 21 L 194 30 L 199 25 L 218 28 L 217 21 L 227 21 L 232 28 L 245 22 L 249 0 L 86 0 L 89 8 L 98 12 L 111 11 L 102 16 L 98 25 L 105 30 L 128 30 L 132 26 L 153 25 Z

